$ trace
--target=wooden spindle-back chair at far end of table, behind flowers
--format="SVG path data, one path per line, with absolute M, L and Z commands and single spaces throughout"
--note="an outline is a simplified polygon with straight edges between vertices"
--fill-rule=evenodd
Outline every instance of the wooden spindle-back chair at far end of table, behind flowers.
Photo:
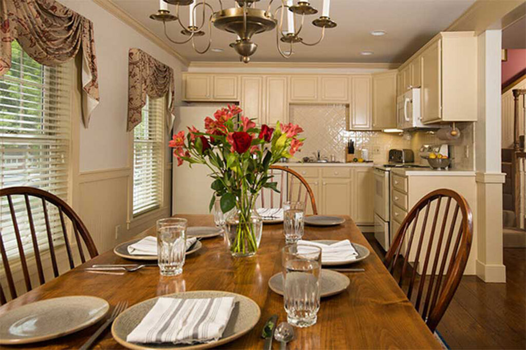
M 262 190 L 261 195 L 259 197 L 261 207 L 282 208 L 284 201 L 303 200 L 305 202 L 305 210 L 307 211 L 307 205 L 310 200 L 312 214 L 318 215 L 318 209 L 316 208 L 316 200 L 314 198 L 314 193 L 312 192 L 312 189 L 310 188 L 305 178 L 303 178 L 300 174 L 298 174 L 290 168 L 280 165 L 271 165 L 269 175 L 277 177 L 278 173 L 281 173 L 281 178 L 278 179 L 278 189 L 280 190 L 280 193 L 272 193 L 271 189 Z M 275 198 L 277 195 L 279 195 L 279 199 Z

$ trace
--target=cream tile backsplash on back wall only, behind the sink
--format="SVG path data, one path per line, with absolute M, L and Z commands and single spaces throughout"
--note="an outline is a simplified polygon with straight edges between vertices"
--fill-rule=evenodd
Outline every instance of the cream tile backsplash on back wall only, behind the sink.
M 369 152 L 369 160 L 386 163 L 389 150 L 393 148 L 411 148 L 411 141 L 404 140 L 398 134 L 381 131 L 348 131 L 347 115 L 349 107 L 345 104 L 292 104 L 290 122 L 299 124 L 306 137 L 302 151 L 297 158 L 312 156 L 318 150 L 322 156 L 335 155 L 336 160 L 345 162 L 347 142 L 355 141 L 355 154 L 360 156 L 362 149 Z

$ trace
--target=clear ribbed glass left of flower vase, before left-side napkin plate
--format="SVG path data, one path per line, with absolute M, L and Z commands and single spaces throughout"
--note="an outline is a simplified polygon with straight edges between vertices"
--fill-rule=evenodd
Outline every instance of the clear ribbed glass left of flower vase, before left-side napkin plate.
M 157 263 L 163 276 L 183 273 L 187 224 L 183 218 L 157 220 Z

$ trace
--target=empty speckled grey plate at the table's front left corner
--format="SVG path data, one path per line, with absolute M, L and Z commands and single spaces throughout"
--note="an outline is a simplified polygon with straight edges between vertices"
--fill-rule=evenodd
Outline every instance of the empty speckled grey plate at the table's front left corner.
M 0 316 L 0 344 L 28 344 L 80 331 L 102 319 L 106 300 L 76 295 L 22 305 Z

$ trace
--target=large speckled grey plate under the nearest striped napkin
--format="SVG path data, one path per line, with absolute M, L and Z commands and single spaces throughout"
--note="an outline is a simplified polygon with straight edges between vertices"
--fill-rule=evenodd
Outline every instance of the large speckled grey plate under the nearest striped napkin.
M 218 341 L 192 345 L 173 343 L 128 343 L 126 341 L 128 334 L 130 334 L 140 321 L 143 320 L 144 316 L 151 310 L 160 296 L 135 304 L 120 314 L 113 322 L 112 335 L 119 344 L 130 349 L 206 349 L 229 343 L 248 333 L 258 323 L 259 317 L 261 316 L 261 310 L 254 300 L 247 298 L 244 295 L 224 291 L 180 292 L 163 295 L 163 298 L 200 299 L 221 298 L 223 296 L 233 296 L 234 302 L 239 303 L 239 307 L 235 307 L 232 311 L 227 327 Z

